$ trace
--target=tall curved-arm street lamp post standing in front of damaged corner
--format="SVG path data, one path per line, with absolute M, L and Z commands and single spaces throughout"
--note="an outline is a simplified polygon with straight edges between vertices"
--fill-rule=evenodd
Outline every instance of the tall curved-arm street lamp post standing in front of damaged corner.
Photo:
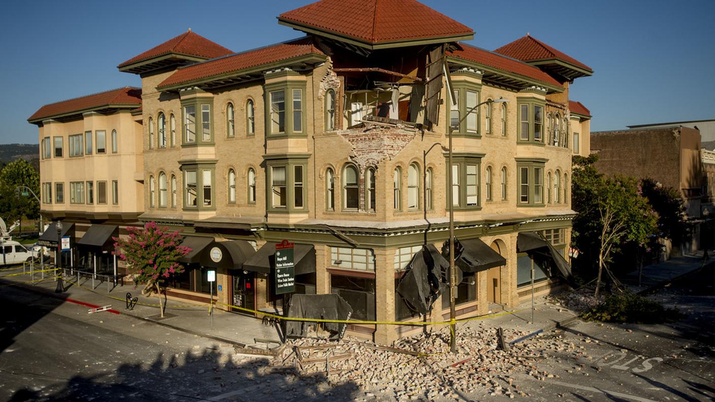
M 451 89 L 449 89 L 451 91 Z M 484 102 L 480 102 L 478 104 L 475 104 L 473 107 L 468 109 L 464 116 L 460 117 L 459 121 L 457 122 L 456 126 L 459 127 L 460 124 L 462 124 L 463 120 L 469 116 L 471 112 L 473 112 L 475 109 L 480 107 L 483 104 L 493 104 L 493 103 L 504 103 L 504 102 L 509 102 L 508 99 L 489 99 Z M 454 131 L 454 127 L 451 122 L 448 130 L 449 134 L 449 150 L 448 150 L 448 167 L 447 167 L 447 180 L 448 180 L 448 203 L 449 203 L 449 319 L 450 319 L 450 338 L 449 338 L 449 344 L 450 344 L 450 351 L 452 353 L 457 353 L 457 337 L 455 334 L 456 331 L 456 323 L 455 323 L 455 282 L 457 280 L 456 275 L 455 275 L 455 264 L 454 264 L 454 190 L 452 188 L 453 186 L 453 170 L 452 170 L 452 132 Z

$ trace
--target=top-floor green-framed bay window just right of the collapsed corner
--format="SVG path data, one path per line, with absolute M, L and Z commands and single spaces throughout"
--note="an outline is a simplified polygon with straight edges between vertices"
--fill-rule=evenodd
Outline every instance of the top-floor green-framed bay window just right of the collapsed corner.
M 454 137 L 481 137 L 480 107 L 474 109 L 468 117 L 465 117 L 465 114 L 469 109 L 480 103 L 482 86 L 472 82 L 453 82 L 452 90 L 455 92 L 457 99 L 456 105 L 452 104 L 450 98 L 447 100 L 450 106 L 447 121 L 450 122 L 450 127 L 455 127 L 452 135 Z M 456 122 L 460 119 L 461 122 L 457 125 Z

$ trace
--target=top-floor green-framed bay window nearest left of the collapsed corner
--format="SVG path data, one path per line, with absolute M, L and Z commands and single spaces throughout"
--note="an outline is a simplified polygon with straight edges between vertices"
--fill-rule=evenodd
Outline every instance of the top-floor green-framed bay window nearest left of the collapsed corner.
M 307 136 L 307 91 L 305 82 L 286 81 L 265 84 L 265 132 L 267 139 L 279 139 L 286 137 L 306 137 Z M 282 92 L 282 101 L 277 98 Z M 273 110 L 272 105 L 282 102 L 282 109 Z M 282 113 L 282 129 L 280 129 L 280 119 L 277 120 L 278 127 L 274 127 L 273 117 Z

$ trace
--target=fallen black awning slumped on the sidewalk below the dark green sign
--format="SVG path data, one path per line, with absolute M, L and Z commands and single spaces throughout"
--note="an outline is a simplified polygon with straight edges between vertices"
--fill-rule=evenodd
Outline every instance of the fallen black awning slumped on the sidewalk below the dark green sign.
M 315 318 L 322 320 L 350 320 L 352 307 L 340 295 L 302 295 L 290 296 L 287 316 L 293 318 Z M 292 337 L 306 336 L 310 325 L 315 321 L 285 321 L 285 335 Z M 345 323 L 323 323 L 323 328 L 337 338 L 345 334 Z

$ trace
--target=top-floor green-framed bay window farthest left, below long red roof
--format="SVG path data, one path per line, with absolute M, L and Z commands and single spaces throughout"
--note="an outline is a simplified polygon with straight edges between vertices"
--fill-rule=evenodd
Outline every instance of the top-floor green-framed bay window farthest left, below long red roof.
M 193 122 L 187 121 L 187 107 L 193 111 Z M 181 101 L 182 147 L 213 146 L 215 144 L 214 99 L 195 97 Z M 207 121 L 204 119 L 208 118 Z M 191 137 L 187 137 L 187 125 L 193 127 Z

